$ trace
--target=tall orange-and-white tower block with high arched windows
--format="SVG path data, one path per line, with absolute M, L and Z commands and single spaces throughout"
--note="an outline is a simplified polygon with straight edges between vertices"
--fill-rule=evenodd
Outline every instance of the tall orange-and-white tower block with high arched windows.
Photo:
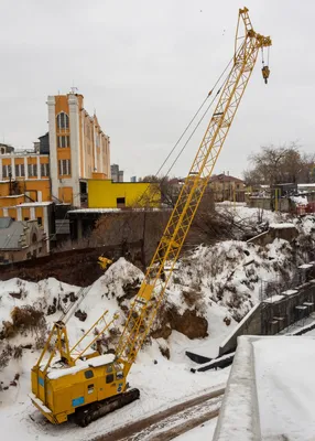
M 109 137 L 84 109 L 83 95 L 50 96 L 47 105 L 52 196 L 79 207 L 86 180 L 110 178 Z

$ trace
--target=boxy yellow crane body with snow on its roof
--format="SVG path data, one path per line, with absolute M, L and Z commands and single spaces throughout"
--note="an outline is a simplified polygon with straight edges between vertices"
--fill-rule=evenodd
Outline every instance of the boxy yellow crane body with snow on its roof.
M 44 374 L 32 370 L 32 394 L 30 394 L 36 408 L 54 424 L 67 421 L 76 415 L 79 426 L 90 422 L 90 405 L 99 405 L 101 413 L 111 411 L 139 398 L 138 389 L 127 390 L 126 377 L 121 365 L 115 362 L 113 354 L 91 357 L 73 367 L 50 369 Z M 120 397 L 110 400 L 111 397 Z M 43 405 L 45 402 L 45 405 Z M 85 415 L 86 413 L 86 415 Z

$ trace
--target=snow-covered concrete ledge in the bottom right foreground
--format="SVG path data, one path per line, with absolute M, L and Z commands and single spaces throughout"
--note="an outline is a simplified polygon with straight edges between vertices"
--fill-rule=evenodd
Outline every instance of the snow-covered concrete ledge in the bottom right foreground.
M 214 441 L 314 440 L 315 337 L 241 336 Z

